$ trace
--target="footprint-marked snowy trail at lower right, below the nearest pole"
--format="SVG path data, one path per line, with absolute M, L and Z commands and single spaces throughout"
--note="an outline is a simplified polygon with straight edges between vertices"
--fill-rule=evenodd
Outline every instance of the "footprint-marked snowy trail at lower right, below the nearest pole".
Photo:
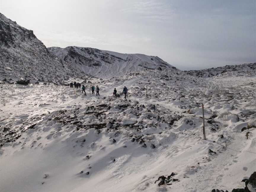
M 255 134 L 256 130 L 253 131 L 253 135 Z M 209 163 L 202 165 L 200 172 L 183 183 L 184 191 L 211 191 L 214 188 L 230 191 L 233 186 L 244 188 L 244 183 L 239 181 L 247 178 L 252 174 L 252 170 L 255 170 L 256 146 L 248 145 L 244 134 L 232 134 L 230 137 L 231 143 L 224 147 L 223 151 L 218 151 Z M 255 137 L 252 140 L 255 140 Z M 244 151 L 246 148 L 249 148 L 252 154 L 247 154 L 248 152 Z M 244 167 L 246 164 L 249 166 Z M 247 172 L 248 170 L 250 171 Z

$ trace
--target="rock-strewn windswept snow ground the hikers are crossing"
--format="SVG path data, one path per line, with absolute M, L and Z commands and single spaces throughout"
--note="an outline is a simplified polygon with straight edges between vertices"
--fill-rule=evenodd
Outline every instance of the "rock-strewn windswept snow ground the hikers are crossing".
M 255 77 L 145 70 L 91 81 L 99 97 L 89 84 L 86 96 L 0 84 L 1 192 L 231 191 L 255 171 Z M 127 100 L 112 96 L 124 86 Z M 154 183 L 172 172 L 172 185 Z

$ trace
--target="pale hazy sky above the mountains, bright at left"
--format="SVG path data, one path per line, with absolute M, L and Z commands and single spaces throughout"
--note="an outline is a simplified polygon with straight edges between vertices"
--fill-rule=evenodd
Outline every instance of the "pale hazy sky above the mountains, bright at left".
M 0 0 L 47 47 L 155 55 L 180 69 L 256 62 L 256 0 Z

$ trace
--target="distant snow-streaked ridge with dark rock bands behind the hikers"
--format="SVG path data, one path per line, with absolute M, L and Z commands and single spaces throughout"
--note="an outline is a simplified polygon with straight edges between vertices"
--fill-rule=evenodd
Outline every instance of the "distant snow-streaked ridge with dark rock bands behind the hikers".
M 109 78 L 143 69 L 176 69 L 159 57 L 143 54 L 122 54 L 88 47 L 49 47 L 49 52 L 84 73 Z

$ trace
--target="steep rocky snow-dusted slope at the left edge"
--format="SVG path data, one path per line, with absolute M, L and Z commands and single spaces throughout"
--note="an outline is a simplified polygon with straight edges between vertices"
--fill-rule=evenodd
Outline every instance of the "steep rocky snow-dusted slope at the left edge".
M 50 54 L 33 31 L 21 27 L 1 13 L 0 58 L 0 80 L 14 82 L 24 78 L 57 83 L 81 76 L 81 72 L 72 65 Z

